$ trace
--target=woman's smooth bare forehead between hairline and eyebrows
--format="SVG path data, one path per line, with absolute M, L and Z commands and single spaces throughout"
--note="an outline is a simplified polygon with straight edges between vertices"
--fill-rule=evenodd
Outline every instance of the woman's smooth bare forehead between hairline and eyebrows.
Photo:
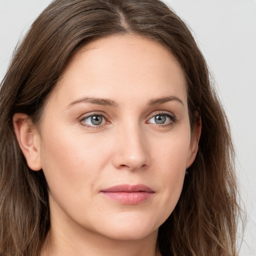
M 186 102 L 178 61 L 163 45 L 138 35 L 109 36 L 81 47 L 56 88 L 65 101 L 81 96 L 148 101 L 172 94 Z

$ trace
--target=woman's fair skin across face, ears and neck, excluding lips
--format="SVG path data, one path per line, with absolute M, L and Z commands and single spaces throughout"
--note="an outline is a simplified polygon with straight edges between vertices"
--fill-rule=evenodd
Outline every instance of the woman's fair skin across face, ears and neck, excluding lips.
M 200 134 L 200 125 L 190 130 L 186 81 L 165 47 L 135 35 L 97 39 L 69 62 L 39 127 L 22 113 L 13 123 L 28 166 L 42 168 L 49 186 L 41 255 L 160 255 L 157 230 L 177 203 Z M 124 183 L 153 195 L 130 205 L 100 193 Z

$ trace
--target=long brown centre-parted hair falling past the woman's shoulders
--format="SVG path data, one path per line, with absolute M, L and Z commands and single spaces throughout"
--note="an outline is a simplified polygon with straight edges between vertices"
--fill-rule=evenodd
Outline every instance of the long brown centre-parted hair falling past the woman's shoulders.
M 34 21 L 0 89 L 0 255 L 39 255 L 50 228 L 47 183 L 26 164 L 12 116 L 40 121 L 47 96 L 71 56 L 112 34 L 139 34 L 164 45 L 187 81 L 191 127 L 202 122 L 199 150 L 178 203 L 159 227 L 162 255 L 237 255 L 239 206 L 226 116 L 189 29 L 160 0 L 55 0 Z

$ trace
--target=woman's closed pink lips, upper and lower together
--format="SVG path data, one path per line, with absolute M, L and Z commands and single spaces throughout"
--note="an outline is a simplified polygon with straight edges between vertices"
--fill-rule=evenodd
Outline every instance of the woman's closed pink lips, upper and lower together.
M 120 184 L 102 189 L 100 193 L 121 204 L 138 204 L 148 200 L 155 192 L 143 184 Z

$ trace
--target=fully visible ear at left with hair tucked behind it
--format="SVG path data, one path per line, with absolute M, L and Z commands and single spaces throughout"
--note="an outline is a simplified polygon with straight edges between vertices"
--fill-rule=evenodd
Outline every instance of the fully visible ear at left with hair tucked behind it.
M 27 165 L 32 170 L 41 169 L 40 136 L 28 115 L 15 113 L 12 118 L 14 131 Z

